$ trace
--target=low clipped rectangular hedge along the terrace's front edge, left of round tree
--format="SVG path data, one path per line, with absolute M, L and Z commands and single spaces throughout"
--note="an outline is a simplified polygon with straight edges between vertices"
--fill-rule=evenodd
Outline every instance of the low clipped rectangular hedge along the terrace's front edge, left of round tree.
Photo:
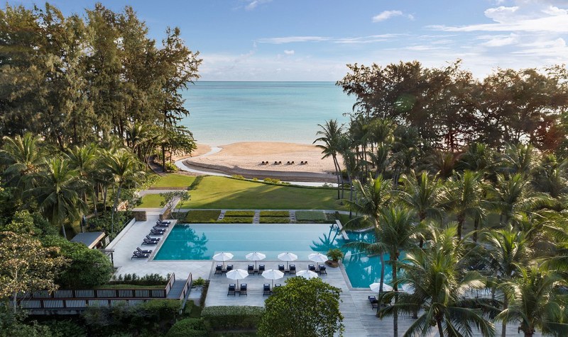
M 263 307 L 205 307 L 201 316 L 214 330 L 256 329 Z

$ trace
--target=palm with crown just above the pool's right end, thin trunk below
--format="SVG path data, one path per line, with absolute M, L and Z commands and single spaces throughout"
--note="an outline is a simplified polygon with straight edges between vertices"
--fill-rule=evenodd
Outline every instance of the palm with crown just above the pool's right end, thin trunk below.
M 348 205 L 351 210 L 354 210 L 357 214 L 360 214 L 364 222 L 371 224 L 371 227 L 378 230 L 381 227 L 380 222 L 380 210 L 383 205 L 391 199 L 391 187 L 392 183 L 390 180 L 383 179 L 383 176 L 378 176 L 376 179 L 369 177 L 366 183 L 363 185 L 360 181 L 353 181 L 355 190 L 357 191 L 357 198 L 354 201 L 348 201 Z M 351 222 L 355 223 L 355 222 Z M 344 226 L 344 228 L 349 229 L 349 222 Z M 354 242 L 349 244 L 350 246 L 359 246 L 359 242 Z M 386 251 L 384 251 L 382 245 L 367 246 L 366 251 L 369 253 L 378 253 L 379 259 L 381 260 L 381 281 L 379 285 L 379 292 L 383 292 L 383 283 L 385 280 L 385 258 L 383 256 Z

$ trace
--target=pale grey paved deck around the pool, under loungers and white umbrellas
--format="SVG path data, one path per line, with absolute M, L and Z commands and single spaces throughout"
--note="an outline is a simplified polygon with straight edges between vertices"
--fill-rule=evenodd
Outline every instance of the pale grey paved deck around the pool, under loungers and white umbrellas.
M 118 267 L 116 275 L 126 273 L 136 273 L 137 275 L 146 275 L 151 273 L 158 273 L 160 275 L 167 275 L 168 273 L 175 273 L 176 279 L 185 279 L 189 273 L 192 273 L 193 278 L 210 279 L 209 290 L 207 292 L 207 299 L 205 306 L 214 305 L 252 305 L 263 306 L 264 300 L 267 298 L 263 296 L 263 284 L 271 283 L 271 280 L 263 278 L 261 275 L 249 275 L 244 280 L 239 280 L 239 285 L 245 282 L 248 287 L 247 296 L 227 296 L 229 283 L 236 283 L 236 280 L 229 280 L 226 275 L 214 275 L 214 265 L 216 261 L 153 261 L 152 257 L 146 259 L 131 259 L 132 252 L 136 247 L 140 246 L 141 249 L 154 249 L 157 250 L 162 241 L 168 235 L 168 232 L 160 240 L 158 246 L 141 245 L 143 238 L 150 232 L 158 220 L 159 210 L 147 210 L 148 220 L 145 222 L 135 222 L 129 227 L 126 227 L 119 236 L 111 242 L 108 248 L 114 249 L 114 265 Z M 175 221 L 175 220 L 174 220 Z M 175 222 L 173 223 L 175 224 Z M 172 225 L 173 225 L 172 224 Z M 246 270 L 250 261 L 230 261 L 234 268 L 241 268 Z M 278 264 L 282 261 L 263 261 L 266 269 L 278 269 Z M 307 264 L 311 261 L 294 261 L 297 270 L 304 270 Z M 363 336 L 393 336 L 393 320 L 378 319 L 375 316 L 376 311 L 371 309 L 371 304 L 367 300 L 367 296 L 376 295 L 370 290 L 355 290 L 350 288 L 346 281 L 345 275 L 341 268 L 327 268 L 327 275 L 322 275 L 321 278 L 334 287 L 339 287 L 342 290 L 341 304 L 339 309 L 344 316 L 346 337 L 363 337 Z M 275 283 L 284 284 L 285 280 L 289 278 L 285 275 L 280 280 L 275 280 Z M 398 321 L 398 331 L 400 336 L 408 329 L 413 323 L 414 319 L 408 316 L 401 316 Z M 496 324 L 497 333 L 501 334 L 501 323 Z M 432 329 L 431 333 L 427 336 L 438 336 L 436 329 Z M 474 333 L 474 336 L 481 336 L 481 333 Z M 518 324 L 508 324 L 507 336 L 523 336 L 523 333 L 518 333 Z M 541 335 L 535 333 L 535 337 Z

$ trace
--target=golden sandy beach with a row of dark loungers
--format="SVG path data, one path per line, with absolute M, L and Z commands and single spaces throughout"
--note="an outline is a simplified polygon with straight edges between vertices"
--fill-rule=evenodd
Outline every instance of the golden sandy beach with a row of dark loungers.
M 199 144 L 197 152 L 184 164 L 194 169 L 240 174 L 246 178 L 329 182 L 335 178 L 333 160 L 322 159 L 322 150 L 311 144 L 237 142 L 222 145 L 221 151 L 202 156 L 210 149 L 207 145 Z M 268 164 L 262 164 L 263 161 Z M 307 164 L 301 164 L 302 161 Z

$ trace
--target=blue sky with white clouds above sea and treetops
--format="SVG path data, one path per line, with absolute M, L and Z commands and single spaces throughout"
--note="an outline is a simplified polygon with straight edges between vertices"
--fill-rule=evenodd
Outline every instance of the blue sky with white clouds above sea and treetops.
M 84 16 L 96 1 L 50 1 Z M 346 64 L 456 59 L 497 68 L 568 63 L 568 0 L 101 0 L 132 6 L 149 35 L 178 26 L 204 81 L 337 81 Z M 30 7 L 38 1 L 8 1 Z M 3 7 L 4 8 L 4 7 Z

